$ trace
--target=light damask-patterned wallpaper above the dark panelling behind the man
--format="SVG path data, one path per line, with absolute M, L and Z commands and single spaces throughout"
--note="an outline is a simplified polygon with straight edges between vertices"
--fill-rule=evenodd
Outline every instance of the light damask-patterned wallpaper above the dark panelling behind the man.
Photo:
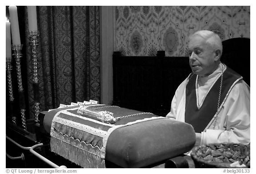
M 250 38 L 250 6 L 116 6 L 115 51 L 128 56 L 186 56 L 188 36 L 211 30 L 222 40 Z

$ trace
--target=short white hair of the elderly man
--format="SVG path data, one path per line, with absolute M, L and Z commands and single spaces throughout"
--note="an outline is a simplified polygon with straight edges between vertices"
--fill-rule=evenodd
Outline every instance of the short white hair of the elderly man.
M 193 35 L 189 36 L 189 40 L 193 37 L 199 35 L 205 40 L 205 43 L 212 46 L 213 49 L 219 49 L 220 54 L 222 54 L 222 41 L 216 33 L 208 30 L 196 31 Z

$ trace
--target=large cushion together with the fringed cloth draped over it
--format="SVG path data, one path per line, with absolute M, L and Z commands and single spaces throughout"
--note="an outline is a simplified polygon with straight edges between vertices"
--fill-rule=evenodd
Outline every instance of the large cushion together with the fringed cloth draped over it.
M 81 114 L 80 106 L 65 106 L 44 116 L 52 151 L 84 168 L 154 166 L 190 151 L 196 142 L 190 124 L 117 106 L 87 106 Z M 111 112 L 116 120 L 106 124 L 87 111 Z

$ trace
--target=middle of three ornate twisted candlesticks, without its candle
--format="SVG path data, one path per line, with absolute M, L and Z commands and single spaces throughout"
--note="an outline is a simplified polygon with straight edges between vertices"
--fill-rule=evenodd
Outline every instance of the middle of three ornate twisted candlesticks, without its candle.
M 21 68 L 20 68 L 20 58 L 22 58 L 22 44 L 21 45 L 12 45 L 13 56 L 16 60 L 16 70 L 17 70 L 17 79 L 18 79 L 18 91 L 19 91 L 19 101 L 20 101 L 20 112 L 21 112 L 21 120 L 22 127 L 26 130 L 26 117 L 25 117 L 25 98 L 24 98 L 24 90 L 22 88 L 22 79 L 21 79 Z

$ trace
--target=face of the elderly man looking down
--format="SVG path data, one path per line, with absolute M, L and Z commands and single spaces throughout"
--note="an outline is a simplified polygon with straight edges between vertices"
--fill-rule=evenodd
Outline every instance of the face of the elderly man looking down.
M 193 73 L 203 77 L 215 70 L 215 52 L 199 35 L 188 43 L 189 65 Z

